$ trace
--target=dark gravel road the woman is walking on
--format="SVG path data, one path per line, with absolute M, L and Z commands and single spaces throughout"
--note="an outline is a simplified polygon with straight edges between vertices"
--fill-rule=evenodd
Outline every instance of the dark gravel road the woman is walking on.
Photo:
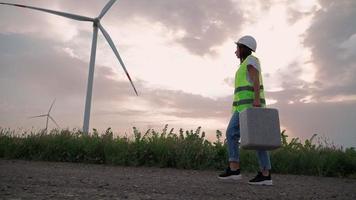
M 356 180 L 273 174 L 274 186 L 219 172 L 0 159 L 0 199 L 356 199 Z

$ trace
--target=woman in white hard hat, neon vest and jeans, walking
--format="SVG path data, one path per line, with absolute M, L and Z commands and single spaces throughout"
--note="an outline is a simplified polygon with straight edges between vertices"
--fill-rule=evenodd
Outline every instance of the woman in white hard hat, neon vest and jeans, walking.
M 236 42 L 236 56 L 240 67 L 235 75 L 233 115 L 226 130 L 229 166 L 219 175 L 220 179 L 241 179 L 240 174 L 240 126 L 239 113 L 250 107 L 265 107 L 260 62 L 252 55 L 256 51 L 256 40 L 243 36 Z M 267 151 L 257 151 L 260 171 L 248 183 L 253 185 L 272 185 L 271 162 Z

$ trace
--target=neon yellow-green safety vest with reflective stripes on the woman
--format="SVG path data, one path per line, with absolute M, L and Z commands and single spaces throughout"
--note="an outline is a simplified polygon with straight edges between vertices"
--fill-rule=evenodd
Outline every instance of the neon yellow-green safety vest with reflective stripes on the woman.
M 253 56 L 253 55 L 250 55 Z M 247 61 L 250 58 L 248 56 L 241 64 L 235 75 L 235 91 L 233 111 L 242 112 L 247 108 L 253 107 L 253 100 L 255 98 L 255 92 L 253 83 L 248 81 Z M 254 56 L 253 56 L 254 57 Z M 257 59 L 256 57 L 254 57 Z M 257 59 L 258 60 L 258 59 Z M 260 102 L 261 107 L 266 107 L 266 100 L 264 95 L 264 88 L 262 83 L 261 72 L 259 72 L 260 79 Z

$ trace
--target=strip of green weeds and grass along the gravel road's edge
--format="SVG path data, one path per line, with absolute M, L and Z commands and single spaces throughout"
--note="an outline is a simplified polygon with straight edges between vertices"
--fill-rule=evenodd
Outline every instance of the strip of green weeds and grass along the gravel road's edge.
M 134 127 L 133 133 L 131 138 L 114 137 L 109 128 L 102 134 L 94 129 L 90 135 L 76 130 L 19 135 L 0 128 L 0 158 L 211 170 L 227 165 L 220 131 L 215 142 L 208 141 L 200 127 L 178 133 L 168 131 L 168 125 L 160 132 L 145 133 Z M 316 145 L 316 135 L 304 143 L 298 138 L 288 142 L 287 137 L 283 131 L 282 148 L 271 152 L 274 173 L 356 178 L 355 148 L 336 148 L 327 142 Z M 242 149 L 241 164 L 244 171 L 256 171 L 256 153 Z

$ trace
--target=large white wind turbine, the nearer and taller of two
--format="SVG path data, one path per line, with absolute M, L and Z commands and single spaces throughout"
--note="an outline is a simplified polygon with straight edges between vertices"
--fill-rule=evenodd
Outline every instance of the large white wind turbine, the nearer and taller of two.
M 100 29 L 101 33 L 104 35 L 106 41 L 109 43 L 110 47 L 112 48 L 114 54 L 116 55 L 117 59 L 119 60 L 122 68 L 124 69 L 127 78 L 129 79 L 136 95 L 138 96 L 137 90 L 131 80 L 131 77 L 129 73 L 126 70 L 125 64 L 122 61 L 120 54 L 118 50 L 115 47 L 115 44 L 113 40 L 111 39 L 110 35 L 106 32 L 104 27 L 100 24 L 100 20 L 104 17 L 104 15 L 108 12 L 108 10 L 112 7 L 112 5 L 116 2 L 116 0 L 110 0 L 105 7 L 102 9 L 101 13 L 99 14 L 98 17 L 96 18 L 91 18 L 91 17 L 86 17 L 86 16 L 81 16 L 81 15 L 76 15 L 76 14 L 71 14 L 71 13 L 65 13 L 65 12 L 60 12 L 60 11 L 54 11 L 54 10 L 48 10 L 44 8 L 38 8 L 38 7 L 33 7 L 33 6 L 26 6 L 26 5 L 21 5 L 21 4 L 13 4 L 13 3 L 2 3 L 2 5 L 7 5 L 7 6 L 17 6 L 21 8 L 28 8 L 28 9 L 33 9 L 33 10 L 38 10 L 54 15 L 59 15 L 62 17 L 66 17 L 69 19 L 77 20 L 77 21 L 86 21 L 86 22 L 92 22 L 93 23 L 93 41 L 92 41 L 92 46 L 91 46 L 91 55 L 90 55 L 90 63 L 89 63 L 89 75 L 88 75 L 88 85 L 87 85 L 87 94 L 86 94 L 86 100 L 85 100 L 85 110 L 84 110 L 84 122 L 83 122 L 83 132 L 88 133 L 89 132 L 89 120 L 90 120 L 90 108 L 91 108 L 91 98 L 92 98 L 92 91 L 93 91 L 93 79 L 94 79 L 94 68 L 95 68 L 95 56 L 96 56 L 96 45 L 97 45 L 97 38 L 98 38 L 98 29 Z

